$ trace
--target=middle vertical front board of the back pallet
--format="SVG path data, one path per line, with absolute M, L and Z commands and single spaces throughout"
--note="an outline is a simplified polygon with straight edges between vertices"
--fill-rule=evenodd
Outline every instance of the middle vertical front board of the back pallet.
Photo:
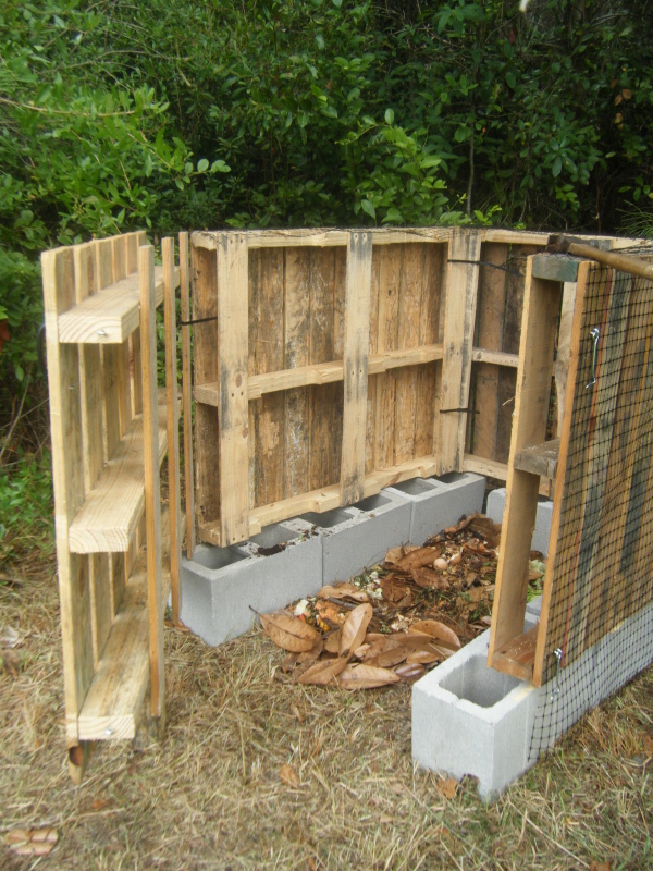
M 352 233 L 347 246 L 345 378 L 341 492 L 344 505 L 362 499 L 367 421 L 372 237 Z

